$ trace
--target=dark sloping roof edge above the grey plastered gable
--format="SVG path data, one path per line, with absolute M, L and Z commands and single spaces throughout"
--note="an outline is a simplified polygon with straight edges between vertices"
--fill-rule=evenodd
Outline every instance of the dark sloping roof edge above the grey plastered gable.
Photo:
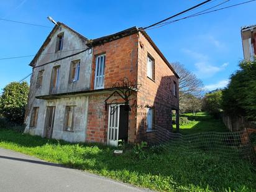
M 43 50 L 45 49 L 45 47 L 48 45 L 48 43 L 51 40 L 51 36 L 52 34 L 58 29 L 58 27 L 60 25 L 63 25 L 64 27 L 66 27 L 67 29 L 71 30 L 72 32 L 74 32 L 76 35 L 78 35 L 81 39 L 85 39 L 88 40 L 85 36 L 81 35 L 80 33 L 76 32 L 75 30 L 71 29 L 71 27 L 68 27 L 68 25 L 63 24 L 62 22 L 57 22 L 58 25 L 55 25 L 52 29 L 52 31 L 50 32 L 50 34 L 48 34 L 47 38 L 45 39 L 45 41 L 43 42 L 43 45 L 39 48 L 39 51 L 37 52 L 37 54 L 35 54 L 35 57 L 33 58 L 33 60 L 29 63 L 30 66 L 34 66 L 35 65 L 35 61 L 37 60 L 37 58 L 39 58 L 40 53 L 43 52 Z

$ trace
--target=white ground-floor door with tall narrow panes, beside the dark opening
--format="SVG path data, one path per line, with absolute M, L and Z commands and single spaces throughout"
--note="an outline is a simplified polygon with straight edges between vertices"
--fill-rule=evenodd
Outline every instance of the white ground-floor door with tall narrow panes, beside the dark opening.
M 119 133 L 119 104 L 109 105 L 109 118 L 107 129 L 107 144 L 117 147 L 118 146 L 118 133 Z

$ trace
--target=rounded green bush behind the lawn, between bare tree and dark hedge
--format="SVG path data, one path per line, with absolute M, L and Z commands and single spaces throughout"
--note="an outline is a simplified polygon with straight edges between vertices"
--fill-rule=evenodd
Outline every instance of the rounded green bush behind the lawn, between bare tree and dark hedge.
M 211 91 L 203 98 L 203 110 L 209 112 L 214 117 L 219 117 L 222 111 L 222 90 Z

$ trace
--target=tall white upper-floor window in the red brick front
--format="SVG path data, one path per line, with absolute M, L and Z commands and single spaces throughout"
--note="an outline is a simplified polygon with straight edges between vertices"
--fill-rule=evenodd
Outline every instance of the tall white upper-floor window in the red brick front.
M 96 57 L 94 89 L 104 88 L 105 58 L 105 55 L 99 55 Z

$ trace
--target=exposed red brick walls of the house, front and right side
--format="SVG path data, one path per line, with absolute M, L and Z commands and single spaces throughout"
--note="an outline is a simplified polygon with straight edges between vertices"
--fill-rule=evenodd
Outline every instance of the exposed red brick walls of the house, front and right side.
M 106 54 L 104 88 L 111 88 L 117 81 L 126 77 L 140 85 L 129 102 L 129 142 L 140 142 L 151 137 L 147 132 L 147 109 L 153 106 L 155 123 L 165 129 L 171 129 L 171 109 L 178 109 L 178 96 L 173 96 L 173 82 L 178 86 L 178 78 L 174 75 L 149 39 L 141 32 L 122 37 L 93 47 L 93 69 L 91 89 L 94 89 L 94 71 L 96 56 Z M 155 80 L 147 77 L 147 56 L 155 63 Z M 178 91 L 177 91 L 178 92 Z M 107 141 L 107 104 L 105 100 L 111 93 L 89 96 L 88 126 L 86 140 L 88 142 Z M 118 96 L 114 96 L 117 98 Z M 124 101 L 118 101 L 120 103 Z

